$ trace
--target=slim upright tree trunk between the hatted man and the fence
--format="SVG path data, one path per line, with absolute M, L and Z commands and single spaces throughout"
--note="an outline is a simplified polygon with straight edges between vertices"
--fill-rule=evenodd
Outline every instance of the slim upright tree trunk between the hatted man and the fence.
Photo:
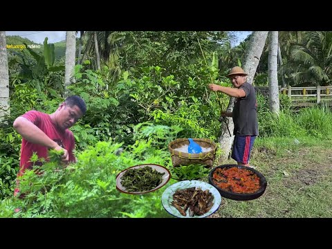
M 279 88 L 278 88 L 278 31 L 270 31 L 270 44 L 268 44 L 268 100 L 270 111 L 279 114 Z

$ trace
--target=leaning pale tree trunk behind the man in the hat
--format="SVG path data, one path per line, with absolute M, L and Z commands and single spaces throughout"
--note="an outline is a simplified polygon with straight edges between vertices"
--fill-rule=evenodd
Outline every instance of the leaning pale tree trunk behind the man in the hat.
M 250 38 L 249 44 L 246 48 L 243 70 L 246 73 L 248 73 L 247 81 L 249 83 L 252 82 L 255 76 L 256 69 L 259 64 L 259 59 L 261 57 L 261 53 L 263 52 L 267 36 L 268 36 L 268 31 L 254 31 Z M 234 98 L 230 98 L 227 111 L 232 112 L 233 107 L 234 107 Z M 232 118 L 227 118 L 227 122 L 228 122 L 228 128 L 230 129 L 230 133 L 232 133 L 234 130 L 234 124 Z M 222 125 L 221 129 L 223 132 L 219 138 L 219 144 L 221 150 L 223 151 L 221 155 L 221 160 L 225 160 L 226 158 L 228 158 L 230 150 L 232 149 L 232 142 L 234 140 L 234 136 L 230 136 L 225 123 L 221 125 Z

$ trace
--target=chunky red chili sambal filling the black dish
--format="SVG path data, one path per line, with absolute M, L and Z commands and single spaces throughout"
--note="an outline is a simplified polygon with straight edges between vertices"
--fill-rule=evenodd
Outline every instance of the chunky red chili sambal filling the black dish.
M 259 190 L 259 177 L 255 172 L 238 167 L 218 168 L 213 172 L 212 181 L 228 192 L 251 194 Z

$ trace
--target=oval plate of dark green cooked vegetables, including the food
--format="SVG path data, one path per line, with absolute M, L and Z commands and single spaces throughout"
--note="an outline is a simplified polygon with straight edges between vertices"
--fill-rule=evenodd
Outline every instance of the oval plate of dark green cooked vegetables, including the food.
M 116 189 L 125 194 L 146 194 L 160 189 L 170 178 L 169 170 L 161 165 L 135 165 L 116 176 Z

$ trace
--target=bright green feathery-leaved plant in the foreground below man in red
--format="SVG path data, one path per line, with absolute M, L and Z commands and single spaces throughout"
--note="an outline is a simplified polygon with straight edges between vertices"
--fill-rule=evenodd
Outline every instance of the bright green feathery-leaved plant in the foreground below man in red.
M 118 154 L 122 147 L 119 143 L 98 142 L 77 153 L 77 163 L 65 168 L 59 167 L 55 155 L 55 162 L 48 161 L 26 170 L 19 178 L 24 198 L 8 196 L 0 201 L 0 217 L 169 216 L 160 201 L 164 190 L 144 195 L 116 190 L 117 174 L 129 165 L 151 163 L 149 160 L 167 165 L 169 155 L 160 154 L 160 150 L 147 143 L 144 151 L 138 143 Z M 31 161 L 36 164 L 39 158 L 33 156 Z M 17 208 L 21 211 L 14 212 Z

